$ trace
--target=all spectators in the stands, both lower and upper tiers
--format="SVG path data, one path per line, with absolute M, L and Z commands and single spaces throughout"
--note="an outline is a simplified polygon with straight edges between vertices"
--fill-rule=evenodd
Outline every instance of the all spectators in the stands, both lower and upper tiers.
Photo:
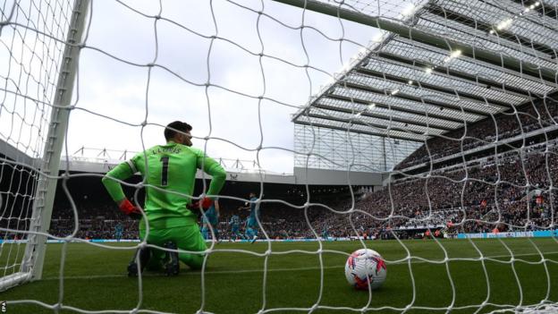
M 544 106 L 528 104 L 517 112 L 446 134 L 450 139 L 428 140 L 430 156 L 424 146 L 397 168 L 489 145 L 496 139 L 555 125 L 556 120 L 557 103 L 546 99 Z M 466 137 L 461 137 L 465 132 Z M 261 224 L 272 239 L 356 235 L 389 238 L 395 234 L 412 237 L 427 228 L 443 229 L 447 233 L 555 228 L 558 140 L 527 143 L 528 146 L 497 156 L 478 156 L 458 164 L 438 165 L 439 168 L 422 174 L 398 173 L 380 191 L 360 189 L 351 194 L 344 189 L 319 195 L 310 193 L 309 200 L 314 205 L 308 208 L 302 206 L 307 201 L 305 189 L 295 189 L 282 199 L 264 199 Z M 8 196 L 4 197 L 4 205 L 10 203 Z M 112 200 L 85 196 L 74 200 L 75 210 L 69 204 L 55 206 L 49 233 L 56 237 L 75 233 L 73 236 L 82 239 L 112 239 L 116 226 L 122 225 L 123 239 L 138 238 L 138 221 L 124 216 Z M 241 205 L 224 200 L 219 221 L 222 239 L 231 237 L 228 222 L 233 214 L 240 215 L 244 221 L 249 215 L 248 210 L 238 209 Z M 4 228 L 27 230 L 29 224 L 27 216 L 10 214 L 0 219 Z

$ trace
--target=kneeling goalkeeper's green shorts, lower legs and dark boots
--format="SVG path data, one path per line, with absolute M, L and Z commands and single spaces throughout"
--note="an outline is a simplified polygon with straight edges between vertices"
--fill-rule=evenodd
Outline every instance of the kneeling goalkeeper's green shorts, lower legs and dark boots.
M 170 225 L 170 224 L 169 224 Z M 139 238 L 145 239 L 146 228 L 139 224 Z M 163 247 L 166 242 L 172 241 L 180 250 L 204 251 L 206 242 L 199 232 L 198 224 L 161 227 L 160 224 L 149 224 L 148 244 Z M 192 269 L 200 269 L 204 259 L 203 253 L 179 253 L 178 258 Z M 149 259 L 148 269 L 155 270 L 162 267 L 165 259 L 164 250 L 154 250 Z

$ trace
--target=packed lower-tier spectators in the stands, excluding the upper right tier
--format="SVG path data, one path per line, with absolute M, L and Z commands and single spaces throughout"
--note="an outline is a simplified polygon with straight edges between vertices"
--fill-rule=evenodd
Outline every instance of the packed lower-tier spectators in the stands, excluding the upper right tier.
M 311 203 L 321 205 L 309 208 L 301 206 L 306 201 L 303 196 L 290 199 L 291 205 L 266 199 L 261 204 L 261 223 L 271 239 L 389 238 L 395 233 L 411 237 L 427 228 L 447 233 L 548 228 L 553 225 L 553 211 L 554 225 L 558 223 L 554 209 L 558 207 L 556 143 L 552 140 L 496 159 L 484 157 L 398 179 L 381 191 L 359 191 L 354 201 L 346 191 L 326 199 L 310 195 Z M 219 229 L 226 240 L 231 237 L 231 216 L 236 213 L 245 220 L 249 212 L 224 204 Z M 115 225 L 122 224 L 124 239 L 138 238 L 138 222 L 123 216 L 112 204 L 77 208 L 77 212 L 76 237 L 111 239 Z M 50 233 L 58 237 L 72 234 L 73 216 L 72 209 L 56 208 Z

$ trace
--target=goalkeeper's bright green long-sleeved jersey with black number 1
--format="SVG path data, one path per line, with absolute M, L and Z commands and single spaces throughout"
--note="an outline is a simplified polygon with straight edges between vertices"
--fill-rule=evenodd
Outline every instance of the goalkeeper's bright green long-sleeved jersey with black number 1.
M 190 223 L 196 223 L 198 216 L 186 206 L 191 203 L 189 196 L 194 191 L 196 171 L 202 168 L 213 177 L 207 195 L 217 195 L 226 179 L 223 167 L 200 149 L 169 141 L 117 165 L 106 174 L 103 183 L 118 202 L 125 195 L 120 182 L 110 178 L 125 180 L 139 172 L 147 183 L 144 209 L 149 223 L 172 217 L 186 217 Z

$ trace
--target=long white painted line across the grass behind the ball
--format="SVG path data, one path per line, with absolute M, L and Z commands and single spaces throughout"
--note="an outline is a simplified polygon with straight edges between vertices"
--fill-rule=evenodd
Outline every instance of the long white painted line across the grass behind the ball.
M 552 252 L 545 252 L 544 254 L 557 254 L 558 251 Z M 513 255 L 514 258 L 520 256 L 534 256 L 539 255 L 538 253 L 525 253 L 525 254 L 515 254 Z M 496 255 L 496 256 L 486 256 L 486 259 L 502 259 L 502 258 L 509 258 L 509 255 Z M 465 258 L 471 259 L 471 258 Z M 459 259 L 458 259 L 459 260 Z M 454 261 L 454 260 L 452 260 Z M 399 263 L 390 263 L 387 265 L 398 265 L 398 264 L 407 264 L 408 262 L 399 262 Z M 411 264 L 422 264 L 427 263 L 424 260 L 415 260 L 410 262 Z M 340 266 L 325 266 L 323 269 L 334 269 L 334 268 L 343 268 L 344 265 Z M 285 272 L 285 271 L 305 271 L 305 270 L 318 270 L 320 267 L 296 267 L 296 268 L 271 268 L 267 269 L 267 272 Z M 263 273 L 264 269 L 238 269 L 238 270 L 215 270 L 215 271 L 207 271 L 206 275 L 219 275 L 219 274 L 246 274 L 246 273 Z M 198 271 L 193 272 L 184 272 L 184 275 L 190 276 L 199 276 L 201 275 Z M 144 274 L 144 277 L 159 277 L 165 276 L 163 274 Z M 123 278 L 127 277 L 126 275 L 119 275 L 119 274 L 110 274 L 110 275 L 93 275 L 93 276 L 64 276 L 63 279 L 101 279 L 101 278 Z M 42 280 L 60 280 L 60 277 L 46 277 Z

